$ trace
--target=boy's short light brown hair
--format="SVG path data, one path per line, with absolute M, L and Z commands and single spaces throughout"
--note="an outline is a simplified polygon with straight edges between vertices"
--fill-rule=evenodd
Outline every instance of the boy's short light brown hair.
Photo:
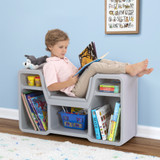
M 69 40 L 67 33 L 60 29 L 49 30 L 45 37 L 46 50 L 50 51 L 48 46 L 54 46 L 59 41 Z

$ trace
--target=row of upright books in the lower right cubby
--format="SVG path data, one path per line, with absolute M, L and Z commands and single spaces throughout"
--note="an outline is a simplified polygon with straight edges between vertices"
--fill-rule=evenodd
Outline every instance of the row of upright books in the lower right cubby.
M 113 114 L 108 104 L 92 109 L 96 139 L 115 141 L 118 138 L 120 113 L 119 102 L 116 102 Z

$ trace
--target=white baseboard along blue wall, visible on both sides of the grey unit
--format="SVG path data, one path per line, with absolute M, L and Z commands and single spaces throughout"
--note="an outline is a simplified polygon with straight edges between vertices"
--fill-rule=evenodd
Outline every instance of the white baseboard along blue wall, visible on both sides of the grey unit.
M 0 108 L 0 118 L 19 120 L 18 109 Z M 138 125 L 136 137 L 160 140 L 160 128 Z

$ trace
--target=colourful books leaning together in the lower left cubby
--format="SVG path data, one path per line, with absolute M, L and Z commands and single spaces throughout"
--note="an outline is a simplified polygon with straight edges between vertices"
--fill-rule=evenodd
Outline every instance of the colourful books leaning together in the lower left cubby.
M 47 103 L 43 93 L 40 91 L 26 91 L 21 96 L 34 130 L 48 130 Z

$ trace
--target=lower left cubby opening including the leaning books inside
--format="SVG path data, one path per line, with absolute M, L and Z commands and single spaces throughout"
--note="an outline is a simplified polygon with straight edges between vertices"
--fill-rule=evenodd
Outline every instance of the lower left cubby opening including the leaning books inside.
M 31 100 L 29 100 L 27 95 L 32 95 Z M 46 132 L 48 130 L 48 107 L 43 92 L 23 89 L 20 103 L 21 127 L 35 132 Z

